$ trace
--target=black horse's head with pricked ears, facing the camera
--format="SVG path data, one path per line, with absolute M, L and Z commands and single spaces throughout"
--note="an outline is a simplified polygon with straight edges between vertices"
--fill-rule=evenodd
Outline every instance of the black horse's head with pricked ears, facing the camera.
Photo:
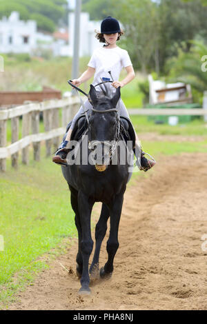
M 108 97 L 90 85 L 89 94 L 93 106 L 88 125 L 89 148 L 99 153 L 97 164 L 105 165 L 110 161 L 119 136 L 119 115 L 116 106 L 120 99 L 120 87 L 112 97 Z

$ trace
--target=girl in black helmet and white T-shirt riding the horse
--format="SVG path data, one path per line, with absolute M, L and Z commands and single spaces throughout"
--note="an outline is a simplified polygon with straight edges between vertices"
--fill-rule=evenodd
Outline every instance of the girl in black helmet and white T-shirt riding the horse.
M 95 74 L 95 80 L 93 81 L 93 85 L 96 85 L 100 82 L 100 79 L 103 79 L 104 81 L 110 80 L 108 79 L 109 74 L 108 71 L 111 72 L 111 75 L 113 79 L 116 81 L 113 81 L 111 84 L 114 88 L 121 87 L 123 88 L 124 85 L 128 84 L 132 79 L 135 78 L 135 72 L 132 67 L 132 62 L 130 61 L 130 57 L 128 55 L 128 52 L 126 50 L 122 50 L 117 46 L 117 41 L 119 41 L 121 34 L 124 34 L 119 26 L 119 22 L 117 19 L 112 17 L 107 17 L 106 19 L 103 19 L 101 22 L 101 33 L 97 33 L 96 37 L 99 39 L 101 43 L 105 43 L 102 48 L 97 48 L 95 52 L 93 52 L 92 57 L 88 63 L 88 69 L 83 72 L 81 77 L 79 79 L 72 80 L 72 84 L 76 85 L 77 87 L 81 85 L 81 83 L 88 81 L 93 74 Z M 127 76 L 124 80 L 119 80 L 119 74 L 122 70 L 122 68 L 126 69 Z M 97 88 L 97 90 L 99 90 Z M 119 105 L 119 114 L 120 116 L 127 117 L 130 119 L 128 115 L 128 111 L 126 110 L 126 107 L 121 99 L 119 99 L 119 102 L 117 103 Z M 85 109 L 91 109 L 92 105 L 86 100 L 84 103 Z M 52 161 L 57 164 L 66 164 L 66 156 L 68 154 L 68 149 L 66 149 L 66 145 L 68 144 L 68 141 L 70 141 L 70 136 L 72 134 L 72 129 L 74 128 L 75 122 L 79 118 L 79 115 L 84 112 L 83 107 L 79 109 L 77 114 L 72 120 L 72 124 L 70 126 L 70 129 L 68 130 L 68 133 L 66 135 L 66 140 L 63 141 L 60 149 L 57 151 L 55 156 L 53 156 Z M 140 148 L 139 139 L 136 135 L 136 145 Z M 141 165 L 137 163 L 140 170 L 147 171 L 150 168 L 152 168 L 153 165 L 155 165 L 155 161 L 148 160 L 144 157 L 144 152 L 141 151 Z M 138 160 L 138 159 L 137 159 Z

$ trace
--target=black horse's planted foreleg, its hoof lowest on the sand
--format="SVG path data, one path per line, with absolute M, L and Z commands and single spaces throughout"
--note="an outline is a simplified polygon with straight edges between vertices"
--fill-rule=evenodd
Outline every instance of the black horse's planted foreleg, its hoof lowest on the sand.
M 81 276 L 81 289 L 79 290 L 79 294 L 90 294 L 88 261 L 93 247 L 90 230 L 90 215 L 92 205 L 94 203 L 91 203 L 88 199 L 88 196 L 86 196 L 86 194 L 83 194 L 83 192 L 79 192 L 78 194 L 78 203 L 82 229 L 81 254 L 83 258 L 83 272 Z

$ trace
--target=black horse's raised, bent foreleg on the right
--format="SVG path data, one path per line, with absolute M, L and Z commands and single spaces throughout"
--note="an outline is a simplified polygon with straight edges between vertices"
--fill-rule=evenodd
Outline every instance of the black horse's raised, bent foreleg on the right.
M 118 230 L 123 205 L 124 194 L 118 194 L 110 206 L 110 235 L 107 241 L 106 250 L 108 252 L 108 261 L 100 270 L 101 278 L 111 276 L 113 271 L 113 262 L 115 254 L 119 247 Z

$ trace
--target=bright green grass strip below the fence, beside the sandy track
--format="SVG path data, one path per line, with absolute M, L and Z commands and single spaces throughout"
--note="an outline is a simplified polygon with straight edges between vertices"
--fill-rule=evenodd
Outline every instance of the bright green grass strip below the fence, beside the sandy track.
M 13 298 L 47 264 L 38 257 L 77 234 L 68 185 L 50 159 L 0 174 L 0 301 Z M 68 242 L 69 243 L 69 242 Z M 59 250 L 66 247 L 63 243 Z M 17 280 L 13 281 L 14 274 Z

